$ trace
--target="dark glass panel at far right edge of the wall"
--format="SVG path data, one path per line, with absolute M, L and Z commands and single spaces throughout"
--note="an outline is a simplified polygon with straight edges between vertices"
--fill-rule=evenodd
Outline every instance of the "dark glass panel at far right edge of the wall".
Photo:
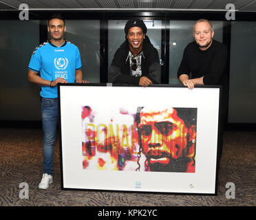
M 228 122 L 256 122 L 256 22 L 231 26 L 231 63 Z

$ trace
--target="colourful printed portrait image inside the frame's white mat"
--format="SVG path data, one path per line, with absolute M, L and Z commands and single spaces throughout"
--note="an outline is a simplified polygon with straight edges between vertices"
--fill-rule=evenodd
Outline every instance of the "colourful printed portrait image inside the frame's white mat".
M 195 173 L 197 108 L 110 112 L 81 107 L 83 169 Z

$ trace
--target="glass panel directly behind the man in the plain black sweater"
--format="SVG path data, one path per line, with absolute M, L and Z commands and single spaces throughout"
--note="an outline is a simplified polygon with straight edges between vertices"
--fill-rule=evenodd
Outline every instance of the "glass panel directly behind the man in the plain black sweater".
M 194 41 L 193 25 L 196 21 L 170 21 L 169 47 L 169 84 L 180 84 L 177 78 L 178 68 L 186 45 Z M 213 39 L 222 42 L 223 21 L 211 21 L 214 30 Z

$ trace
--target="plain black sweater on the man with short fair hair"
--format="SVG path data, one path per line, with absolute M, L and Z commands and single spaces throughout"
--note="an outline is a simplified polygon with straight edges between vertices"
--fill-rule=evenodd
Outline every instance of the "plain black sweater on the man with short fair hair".
M 227 50 L 226 46 L 213 40 L 207 50 L 200 50 L 193 41 L 186 46 L 178 69 L 178 78 L 182 74 L 191 74 L 191 78 L 204 76 L 204 85 L 222 85 L 226 87 L 228 77 L 226 74 Z

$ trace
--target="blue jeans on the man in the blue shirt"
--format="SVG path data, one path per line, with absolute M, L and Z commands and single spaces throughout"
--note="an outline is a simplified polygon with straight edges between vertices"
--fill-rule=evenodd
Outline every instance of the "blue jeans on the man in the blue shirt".
M 54 143 L 58 125 L 58 100 L 42 98 L 41 115 L 43 124 L 43 173 L 52 175 Z

